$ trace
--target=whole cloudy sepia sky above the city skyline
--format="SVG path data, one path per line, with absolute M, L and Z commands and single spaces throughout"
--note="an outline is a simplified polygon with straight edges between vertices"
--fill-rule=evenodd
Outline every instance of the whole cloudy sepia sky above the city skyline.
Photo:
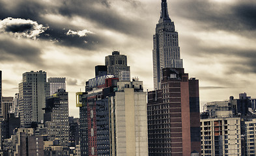
M 256 1 L 167 0 L 190 77 L 200 99 L 246 92 L 256 98 Z M 132 77 L 152 90 L 152 35 L 161 0 L 1 0 L 3 96 L 14 96 L 24 72 L 66 77 L 70 115 L 75 92 L 113 50 L 128 56 Z

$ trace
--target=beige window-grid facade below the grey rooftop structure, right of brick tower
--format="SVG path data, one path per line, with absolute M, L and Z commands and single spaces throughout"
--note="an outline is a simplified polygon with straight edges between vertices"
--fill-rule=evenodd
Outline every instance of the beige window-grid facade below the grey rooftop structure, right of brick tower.
M 202 156 L 242 155 L 240 118 L 201 119 Z

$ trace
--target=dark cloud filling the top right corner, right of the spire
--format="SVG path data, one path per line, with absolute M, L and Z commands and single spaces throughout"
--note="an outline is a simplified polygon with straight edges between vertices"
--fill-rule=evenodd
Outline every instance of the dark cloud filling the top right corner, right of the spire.
M 245 0 L 234 4 L 214 3 L 209 0 L 180 1 L 175 9 L 179 16 L 197 23 L 206 30 L 224 30 L 240 33 L 256 31 L 256 2 Z

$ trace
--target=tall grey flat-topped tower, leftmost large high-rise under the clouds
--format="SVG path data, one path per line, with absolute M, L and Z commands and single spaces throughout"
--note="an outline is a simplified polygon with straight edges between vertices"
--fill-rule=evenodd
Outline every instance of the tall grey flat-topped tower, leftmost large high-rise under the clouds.
M 46 72 L 23 73 L 19 84 L 19 109 L 21 127 L 30 127 L 32 122 L 44 120 L 46 97 L 50 96 L 49 83 L 46 83 Z

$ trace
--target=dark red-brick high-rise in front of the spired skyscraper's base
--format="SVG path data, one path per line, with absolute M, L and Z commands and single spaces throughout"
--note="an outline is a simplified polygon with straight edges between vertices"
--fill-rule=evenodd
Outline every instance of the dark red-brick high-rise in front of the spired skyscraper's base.
M 164 68 L 161 89 L 148 93 L 149 156 L 201 153 L 199 84 L 183 68 Z

